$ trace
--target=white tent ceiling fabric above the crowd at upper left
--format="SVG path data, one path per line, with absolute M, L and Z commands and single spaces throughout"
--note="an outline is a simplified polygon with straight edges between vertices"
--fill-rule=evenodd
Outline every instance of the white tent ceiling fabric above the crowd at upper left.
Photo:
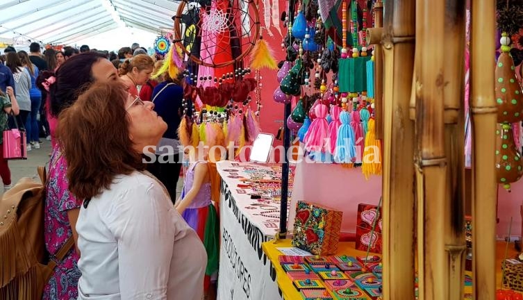
M 119 26 L 161 33 L 172 28 L 174 0 L 13 0 L 0 4 L 0 38 L 67 44 Z

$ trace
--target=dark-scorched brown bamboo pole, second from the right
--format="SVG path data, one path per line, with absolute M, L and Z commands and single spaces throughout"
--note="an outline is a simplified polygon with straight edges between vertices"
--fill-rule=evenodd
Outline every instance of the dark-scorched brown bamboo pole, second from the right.
M 463 299 L 465 276 L 465 0 L 447 0 L 445 13 L 445 299 Z

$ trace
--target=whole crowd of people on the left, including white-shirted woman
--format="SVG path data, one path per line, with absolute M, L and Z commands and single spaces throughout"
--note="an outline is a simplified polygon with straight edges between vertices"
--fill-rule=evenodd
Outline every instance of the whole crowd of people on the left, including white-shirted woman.
M 194 152 L 143 159 L 149 146 L 179 149 L 181 78 L 159 74 L 164 62 L 138 44 L 111 54 L 82 46 L 41 55 L 33 43 L 30 53 L 6 49 L 0 63 L 0 126 L 13 115 L 28 147 L 40 148 L 40 131 L 52 143 L 46 248 L 53 256 L 74 240 L 42 299 L 213 300 L 219 231 L 208 164 Z M 180 156 L 190 167 L 176 199 Z M 0 176 L 10 189 L 3 156 Z

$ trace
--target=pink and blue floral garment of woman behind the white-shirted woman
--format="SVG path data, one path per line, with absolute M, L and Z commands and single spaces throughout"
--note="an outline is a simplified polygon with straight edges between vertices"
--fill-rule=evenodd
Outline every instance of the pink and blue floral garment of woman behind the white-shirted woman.
M 67 210 L 79 208 L 66 177 L 67 163 L 59 147 L 53 148 L 49 162 L 45 199 L 45 247 L 49 253 L 57 253 L 72 235 Z M 53 276 L 44 288 L 43 300 L 76 300 L 78 297 L 78 253 L 71 249 L 61 262 L 57 262 Z

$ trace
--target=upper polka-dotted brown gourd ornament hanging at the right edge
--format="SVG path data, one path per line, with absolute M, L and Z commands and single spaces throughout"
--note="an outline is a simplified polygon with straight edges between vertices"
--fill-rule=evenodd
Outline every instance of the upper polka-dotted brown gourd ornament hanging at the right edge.
M 510 39 L 506 33 L 501 38 L 501 54 L 496 65 L 497 122 L 515 123 L 523 118 L 523 94 L 510 56 Z

